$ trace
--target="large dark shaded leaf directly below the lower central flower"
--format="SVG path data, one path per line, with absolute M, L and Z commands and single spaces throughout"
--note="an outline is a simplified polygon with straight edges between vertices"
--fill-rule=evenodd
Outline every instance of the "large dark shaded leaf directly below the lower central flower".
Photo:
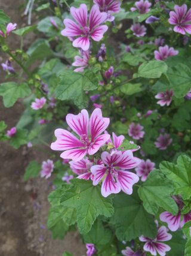
M 119 240 L 130 241 L 142 234 L 155 238 L 157 229 L 153 216 L 146 212 L 134 188 L 132 195 L 118 194 L 113 200 L 115 213 L 112 223 Z

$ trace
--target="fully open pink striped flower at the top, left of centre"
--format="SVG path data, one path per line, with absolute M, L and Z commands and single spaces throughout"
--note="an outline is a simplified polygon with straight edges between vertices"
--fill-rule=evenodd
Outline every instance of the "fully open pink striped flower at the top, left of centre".
M 101 13 L 98 5 L 93 5 L 88 17 L 88 10 L 85 4 L 81 4 L 79 8 L 71 7 L 70 13 L 78 24 L 70 19 L 64 19 L 66 26 L 61 35 L 64 37 L 78 37 L 73 41 L 73 47 L 81 48 L 86 51 L 90 48 L 90 37 L 94 41 L 100 41 L 104 32 L 107 31 L 106 25 L 101 25 L 107 19 L 107 13 Z

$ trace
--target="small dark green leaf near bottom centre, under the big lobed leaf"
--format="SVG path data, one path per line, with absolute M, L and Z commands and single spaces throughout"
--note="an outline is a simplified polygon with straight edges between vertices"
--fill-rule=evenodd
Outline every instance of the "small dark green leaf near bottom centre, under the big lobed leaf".
M 112 239 L 112 233 L 108 228 L 104 228 L 101 221 L 96 220 L 88 234 L 84 234 L 85 243 L 94 245 L 106 245 Z

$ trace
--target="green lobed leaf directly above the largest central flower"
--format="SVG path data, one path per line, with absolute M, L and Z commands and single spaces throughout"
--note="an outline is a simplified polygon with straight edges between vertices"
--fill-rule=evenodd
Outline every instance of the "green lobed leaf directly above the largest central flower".
M 60 82 L 56 88 L 56 97 L 59 100 L 73 101 L 79 109 L 87 106 L 85 91 L 92 91 L 98 86 L 98 79 L 94 73 L 77 73 L 64 70 L 60 76 Z

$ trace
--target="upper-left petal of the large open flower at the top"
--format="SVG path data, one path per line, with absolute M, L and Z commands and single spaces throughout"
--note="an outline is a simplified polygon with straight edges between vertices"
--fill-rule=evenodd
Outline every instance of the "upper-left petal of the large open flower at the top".
M 79 8 L 71 7 L 70 13 L 73 19 L 76 20 L 82 27 L 87 26 L 88 10 L 87 5 L 81 4 Z

